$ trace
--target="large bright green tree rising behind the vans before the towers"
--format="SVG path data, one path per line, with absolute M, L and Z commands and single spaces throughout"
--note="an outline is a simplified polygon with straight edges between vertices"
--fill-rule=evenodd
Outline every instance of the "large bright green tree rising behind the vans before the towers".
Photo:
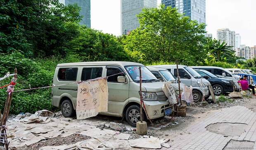
M 171 7 L 142 9 L 137 15 L 140 27 L 133 30 L 122 43 L 134 60 L 141 63 L 157 61 L 192 65 L 203 63 L 205 24 L 191 21 Z

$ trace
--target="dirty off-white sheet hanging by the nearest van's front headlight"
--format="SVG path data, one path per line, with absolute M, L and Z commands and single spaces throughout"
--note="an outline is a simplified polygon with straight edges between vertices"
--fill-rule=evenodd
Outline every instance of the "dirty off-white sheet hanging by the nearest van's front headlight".
M 176 96 L 175 96 L 171 81 L 164 82 L 162 89 L 164 91 L 164 94 L 168 98 L 170 104 L 172 105 L 176 104 L 177 100 L 176 100 Z

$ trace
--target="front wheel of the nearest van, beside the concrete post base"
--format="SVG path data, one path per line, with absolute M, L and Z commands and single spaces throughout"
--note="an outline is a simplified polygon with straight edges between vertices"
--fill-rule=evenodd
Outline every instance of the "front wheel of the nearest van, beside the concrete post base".
M 145 120 L 145 113 L 142 113 L 142 120 Z M 126 121 L 132 127 L 136 127 L 136 123 L 140 121 L 140 107 L 138 105 L 131 105 L 126 110 Z

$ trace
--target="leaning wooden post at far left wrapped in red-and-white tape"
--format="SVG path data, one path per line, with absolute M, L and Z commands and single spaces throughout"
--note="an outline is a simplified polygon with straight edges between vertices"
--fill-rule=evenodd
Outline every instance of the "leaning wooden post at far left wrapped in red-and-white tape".
M 17 68 L 14 69 L 14 73 L 17 73 Z M 12 82 L 15 84 L 17 80 L 17 75 L 14 75 L 12 78 Z M 9 85 L 12 89 L 14 88 L 14 85 Z M 5 108 L 2 114 L 2 120 L 1 120 L 1 124 L 0 126 L 4 126 L 6 124 L 8 115 L 9 115 L 9 111 L 10 111 L 10 106 L 11 106 L 11 102 L 12 102 L 12 94 L 13 92 L 11 92 L 10 94 L 7 93 L 7 97 L 6 97 L 6 101 L 5 101 Z M 1 130 L 1 136 L 5 136 L 3 135 L 4 130 Z M 7 142 L 7 141 L 6 141 Z M 1 145 L 5 145 L 5 148 L 8 150 L 8 144 L 2 144 Z

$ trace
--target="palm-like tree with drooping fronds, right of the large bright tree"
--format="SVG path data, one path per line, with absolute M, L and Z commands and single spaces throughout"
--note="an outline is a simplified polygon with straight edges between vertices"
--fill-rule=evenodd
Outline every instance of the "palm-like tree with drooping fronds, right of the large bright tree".
M 235 51 L 232 46 L 227 46 L 228 43 L 220 42 L 216 39 L 207 39 L 204 45 L 206 53 L 212 62 L 215 61 L 233 61 L 235 59 Z

